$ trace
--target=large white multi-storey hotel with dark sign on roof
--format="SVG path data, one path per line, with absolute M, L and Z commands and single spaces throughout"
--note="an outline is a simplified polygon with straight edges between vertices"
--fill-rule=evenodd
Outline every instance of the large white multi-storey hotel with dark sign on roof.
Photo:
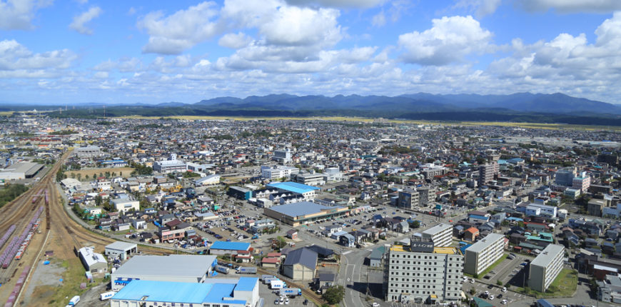
M 463 285 L 463 255 L 458 248 L 435 247 L 412 238 L 394 245 L 386 261 L 387 301 L 440 303 L 458 301 Z

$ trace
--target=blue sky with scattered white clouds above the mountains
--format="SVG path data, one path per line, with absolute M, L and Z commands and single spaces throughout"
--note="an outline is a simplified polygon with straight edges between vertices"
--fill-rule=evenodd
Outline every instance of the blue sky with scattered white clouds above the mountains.
M 619 0 L 0 0 L 0 103 L 563 93 L 621 104 Z

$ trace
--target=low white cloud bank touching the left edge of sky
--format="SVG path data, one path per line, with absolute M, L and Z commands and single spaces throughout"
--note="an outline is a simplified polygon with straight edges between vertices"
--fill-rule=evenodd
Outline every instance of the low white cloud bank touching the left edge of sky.
M 67 69 L 76 55 L 67 50 L 35 54 L 14 40 L 0 41 L 0 72 L 2 76 L 30 78 L 57 76 L 57 71 Z

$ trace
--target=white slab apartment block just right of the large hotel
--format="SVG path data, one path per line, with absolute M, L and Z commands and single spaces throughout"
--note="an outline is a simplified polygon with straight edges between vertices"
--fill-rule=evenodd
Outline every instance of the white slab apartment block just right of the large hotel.
M 478 275 L 503 256 L 505 236 L 490 233 L 477 243 L 466 248 L 464 255 L 464 272 Z

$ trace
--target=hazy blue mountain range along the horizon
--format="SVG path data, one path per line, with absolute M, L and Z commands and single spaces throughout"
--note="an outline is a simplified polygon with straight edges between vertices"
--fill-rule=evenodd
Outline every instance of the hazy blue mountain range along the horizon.
M 103 104 L 81 104 L 52 112 L 61 117 L 97 117 Z M 10 106 L 0 107 L 2 109 Z M 289 94 L 218 97 L 194 104 L 106 104 L 106 116 L 361 116 L 387 119 L 450 121 L 530 121 L 565 124 L 621 126 L 621 106 L 565 94 L 516 93 L 405 94 L 400 96 L 337 95 L 333 97 Z

